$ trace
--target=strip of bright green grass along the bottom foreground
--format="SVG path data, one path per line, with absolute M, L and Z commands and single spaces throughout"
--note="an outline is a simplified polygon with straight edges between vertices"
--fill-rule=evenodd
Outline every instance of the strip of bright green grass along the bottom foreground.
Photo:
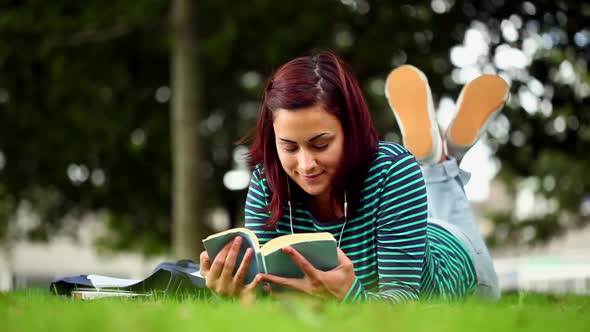
M 252 306 L 223 300 L 73 300 L 0 293 L 0 331 L 590 331 L 590 297 L 515 294 L 498 303 L 405 305 L 298 297 Z

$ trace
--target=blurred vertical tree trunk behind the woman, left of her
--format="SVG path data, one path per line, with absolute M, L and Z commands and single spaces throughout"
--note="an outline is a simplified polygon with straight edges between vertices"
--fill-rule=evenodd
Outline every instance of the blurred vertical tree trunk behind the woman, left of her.
M 199 80 L 196 1 L 171 8 L 172 246 L 176 258 L 196 259 L 205 235 L 201 212 Z

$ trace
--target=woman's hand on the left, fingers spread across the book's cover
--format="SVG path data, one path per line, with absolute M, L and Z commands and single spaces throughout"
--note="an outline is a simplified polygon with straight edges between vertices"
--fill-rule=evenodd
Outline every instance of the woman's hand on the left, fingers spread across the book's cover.
M 242 241 L 243 239 L 238 236 L 227 243 L 217 254 L 213 263 L 206 251 L 201 253 L 199 260 L 201 275 L 205 277 L 205 283 L 209 289 L 222 296 L 239 297 L 249 302 L 256 298 L 256 288 L 261 278 L 260 275 L 256 275 L 252 282 L 244 285 L 244 279 L 254 257 L 252 248 L 246 250 L 240 267 L 233 275 Z

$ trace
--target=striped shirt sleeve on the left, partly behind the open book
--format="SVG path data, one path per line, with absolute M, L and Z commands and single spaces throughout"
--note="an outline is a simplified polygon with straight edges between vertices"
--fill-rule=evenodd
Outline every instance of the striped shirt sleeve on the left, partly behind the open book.
M 246 228 L 256 234 L 261 246 L 279 235 L 275 230 L 265 227 L 266 222 L 270 219 L 269 200 L 266 179 L 261 176 L 260 168 L 257 167 L 252 172 L 250 179 L 244 216 Z

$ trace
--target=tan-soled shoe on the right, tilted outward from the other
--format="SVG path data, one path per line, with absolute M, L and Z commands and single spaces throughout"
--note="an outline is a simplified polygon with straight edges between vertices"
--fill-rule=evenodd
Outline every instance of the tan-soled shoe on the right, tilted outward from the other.
M 508 92 L 506 81 L 496 75 L 481 75 L 463 87 L 457 113 L 445 133 L 448 154 L 463 158 L 502 109 Z

